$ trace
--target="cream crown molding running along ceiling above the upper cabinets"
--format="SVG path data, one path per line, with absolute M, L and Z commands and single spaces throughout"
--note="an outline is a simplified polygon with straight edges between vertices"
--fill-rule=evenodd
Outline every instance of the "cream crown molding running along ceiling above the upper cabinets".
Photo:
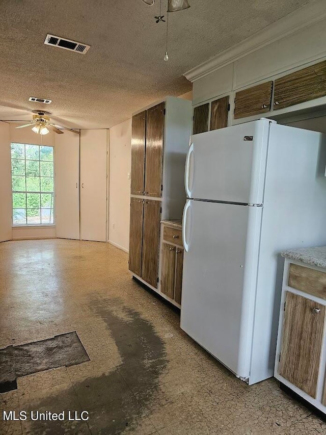
M 309 27 L 326 17 L 324 0 L 315 0 L 302 8 L 269 24 L 266 28 L 255 33 L 238 44 L 223 50 L 218 55 L 190 69 L 183 75 L 191 82 L 202 79 L 204 76 L 241 59 L 260 48 L 265 47 L 294 32 Z

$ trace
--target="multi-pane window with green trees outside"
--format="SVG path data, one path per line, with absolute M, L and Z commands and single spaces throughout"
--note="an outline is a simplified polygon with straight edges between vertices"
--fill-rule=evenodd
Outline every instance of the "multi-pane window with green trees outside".
M 11 144 L 13 225 L 49 225 L 53 218 L 53 147 Z

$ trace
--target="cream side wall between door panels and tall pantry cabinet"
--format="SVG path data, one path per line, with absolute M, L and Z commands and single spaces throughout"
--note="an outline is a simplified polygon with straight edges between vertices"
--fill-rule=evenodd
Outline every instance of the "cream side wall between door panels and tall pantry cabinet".
M 128 251 L 131 166 L 131 119 L 110 129 L 108 241 Z

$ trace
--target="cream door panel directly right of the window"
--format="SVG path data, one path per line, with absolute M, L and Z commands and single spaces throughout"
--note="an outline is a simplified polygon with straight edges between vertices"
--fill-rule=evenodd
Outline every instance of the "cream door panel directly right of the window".
M 56 236 L 79 239 L 79 136 L 55 135 Z

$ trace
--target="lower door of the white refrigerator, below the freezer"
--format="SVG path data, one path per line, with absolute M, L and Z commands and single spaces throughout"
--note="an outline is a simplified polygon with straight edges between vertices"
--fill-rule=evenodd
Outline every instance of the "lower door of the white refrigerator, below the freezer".
M 248 379 L 262 208 L 188 200 L 184 212 L 181 328 Z

